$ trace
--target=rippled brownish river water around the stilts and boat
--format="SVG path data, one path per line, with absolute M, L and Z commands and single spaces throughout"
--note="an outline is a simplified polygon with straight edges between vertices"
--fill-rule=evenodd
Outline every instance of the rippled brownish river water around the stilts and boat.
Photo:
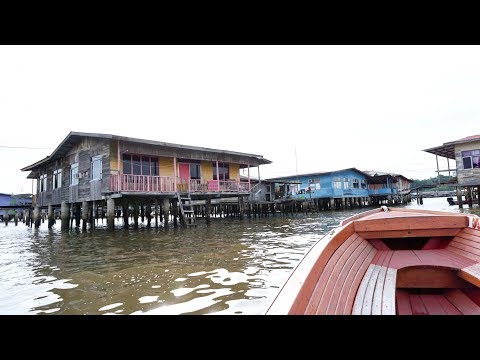
M 446 198 L 407 207 L 459 212 Z M 263 314 L 308 249 L 365 210 L 113 233 L 2 223 L 0 314 Z

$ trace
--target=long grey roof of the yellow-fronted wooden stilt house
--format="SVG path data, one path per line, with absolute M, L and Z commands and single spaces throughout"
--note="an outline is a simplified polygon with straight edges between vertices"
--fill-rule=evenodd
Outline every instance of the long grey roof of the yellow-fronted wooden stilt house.
M 155 145 L 155 146 L 163 146 L 163 147 L 170 147 L 170 148 L 179 148 L 179 149 L 186 149 L 186 150 L 194 150 L 194 151 L 206 151 L 212 152 L 217 154 L 227 154 L 227 155 L 237 155 L 237 156 L 245 156 L 255 158 L 260 164 L 271 164 L 270 160 L 264 159 L 261 155 L 256 154 L 248 154 L 248 153 L 241 153 L 235 151 L 227 151 L 227 150 L 219 150 L 219 149 L 211 149 L 205 147 L 198 147 L 198 146 L 189 146 L 189 145 L 181 145 L 181 144 L 172 144 L 162 141 L 154 141 L 154 140 L 145 140 L 145 139 L 137 139 L 131 138 L 126 136 L 118 136 L 112 134 L 98 134 L 98 133 L 83 133 L 83 132 L 74 132 L 71 131 L 67 137 L 57 146 L 55 150 L 53 150 L 52 154 L 43 158 L 42 160 L 37 161 L 29 166 L 24 167 L 21 169 L 22 171 L 29 171 L 37 168 L 38 166 L 50 162 L 55 161 L 57 159 L 62 158 L 72 147 L 82 138 L 84 137 L 91 137 L 91 138 L 102 138 L 102 139 L 109 139 L 109 140 L 120 140 L 120 141 L 128 141 L 128 142 L 135 142 L 135 143 L 142 143 L 148 145 Z

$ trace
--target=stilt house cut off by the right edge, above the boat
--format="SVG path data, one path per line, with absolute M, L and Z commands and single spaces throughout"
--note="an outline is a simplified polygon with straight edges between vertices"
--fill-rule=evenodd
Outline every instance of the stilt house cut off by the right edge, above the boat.
M 474 192 L 477 194 L 477 202 L 480 205 L 480 196 L 478 196 L 480 193 L 480 135 L 467 136 L 423 151 L 435 155 L 437 175 L 440 173 L 448 173 L 448 176 L 456 175 L 453 185 L 457 186 L 459 207 L 463 207 L 462 190 L 465 192 L 469 206 L 473 204 Z M 447 168 L 440 169 L 439 156 L 446 159 Z M 452 167 L 450 160 L 454 160 Z

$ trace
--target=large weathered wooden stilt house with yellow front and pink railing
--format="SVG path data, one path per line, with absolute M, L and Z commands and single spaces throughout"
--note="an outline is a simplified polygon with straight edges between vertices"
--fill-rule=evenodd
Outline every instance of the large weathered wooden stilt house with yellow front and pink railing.
M 237 196 L 242 210 L 252 188 L 250 169 L 260 173 L 259 166 L 270 163 L 255 154 L 70 132 L 50 156 L 22 171 L 37 180 L 36 227 L 40 209 L 48 208 L 51 225 L 55 207 L 61 207 L 62 228 L 69 228 L 73 219 L 79 226 L 80 218 L 84 228 L 87 221 L 93 226 L 100 206 L 102 214 L 106 207 L 108 227 L 113 228 L 120 207 L 125 226 L 130 211 L 138 225 L 139 215 L 150 224 L 152 210 L 156 215 L 159 209 L 160 221 L 171 214 L 175 223 L 178 215 L 193 224 L 192 199 L 205 200 L 207 222 L 212 198 Z M 247 169 L 246 180 L 240 179 L 240 169 Z

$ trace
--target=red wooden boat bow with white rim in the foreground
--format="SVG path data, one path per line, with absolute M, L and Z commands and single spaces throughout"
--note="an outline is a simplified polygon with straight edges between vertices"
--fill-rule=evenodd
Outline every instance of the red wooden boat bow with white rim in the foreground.
M 266 314 L 480 315 L 480 218 L 381 208 L 307 252 Z

